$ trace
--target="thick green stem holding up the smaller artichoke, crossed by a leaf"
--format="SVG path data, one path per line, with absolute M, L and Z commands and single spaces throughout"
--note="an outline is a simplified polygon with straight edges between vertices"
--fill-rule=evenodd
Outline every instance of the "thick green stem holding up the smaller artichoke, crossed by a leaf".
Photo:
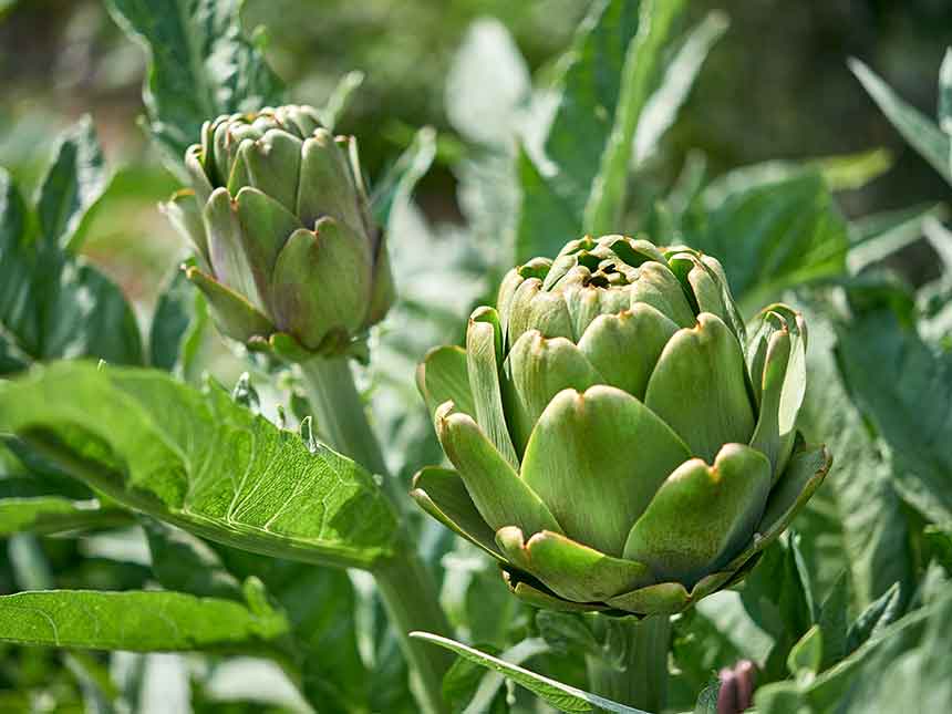
M 406 494 L 387 472 L 346 360 L 314 359 L 302 364 L 301 371 L 318 432 L 333 448 L 380 475 L 393 505 L 404 510 Z M 449 624 L 439 607 L 433 576 L 406 532 L 400 534 L 394 553 L 376 563 L 372 572 L 411 664 L 414 694 L 424 712 L 441 714 L 446 711 L 442 697 L 443 675 L 452 658 L 408 635 L 414 630 L 449 635 Z

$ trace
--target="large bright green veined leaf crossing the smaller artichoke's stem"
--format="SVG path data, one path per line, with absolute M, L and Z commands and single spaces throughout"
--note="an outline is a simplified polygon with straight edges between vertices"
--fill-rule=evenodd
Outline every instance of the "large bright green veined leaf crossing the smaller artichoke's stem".
M 395 517 L 363 468 L 311 454 L 211 383 L 56 363 L 0 384 L 0 430 L 124 506 L 219 542 L 348 567 L 390 553 Z

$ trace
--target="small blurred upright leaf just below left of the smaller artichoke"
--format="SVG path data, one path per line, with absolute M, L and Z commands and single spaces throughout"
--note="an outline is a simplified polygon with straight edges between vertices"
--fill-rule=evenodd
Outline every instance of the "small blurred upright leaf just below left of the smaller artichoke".
M 148 338 L 152 366 L 195 381 L 208 324 L 205 296 L 177 268 L 159 294 L 152 318 Z

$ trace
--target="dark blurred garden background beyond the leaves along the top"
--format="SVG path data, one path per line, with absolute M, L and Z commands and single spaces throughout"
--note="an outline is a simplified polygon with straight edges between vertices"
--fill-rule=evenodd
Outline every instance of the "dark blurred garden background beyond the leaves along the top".
M 369 175 L 412 141 L 414 127 L 439 132 L 437 161 L 418 200 L 437 223 L 462 221 L 452 165 L 466 152 L 444 110 L 445 80 L 467 27 L 490 15 L 513 33 L 545 76 L 583 15 L 584 0 L 248 0 L 245 23 L 266 33 L 269 60 L 299 101 L 322 102 L 342 75 L 365 73 L 340 130 L 361 137 Z M 673 179 L 690 149 L 713 174 L 770 158 L 800 158 L 882 146 L 892 170 L 859 192 L 841 193 L 859 216 L 941 200 L 948 187 L 908 148 L 849 73 L 858 56 L 931 115 L 934 72 L 949 41 L 944 0 L 704 0 L 731 18 L 675 127 L 665 136 L 661 176 Z M 55 131 L 90 112 L 117 176 L 91 226 L 86 252 L 120 281 L 142 317 L 183 247 L 155 205 L 175 187 L 135 123 L 142 111 L 144 56 L 97 0 L 0 2 L 0 165 L 29 189 Z M 908 279 L 932 277 L 921 244 L 894 260 Z

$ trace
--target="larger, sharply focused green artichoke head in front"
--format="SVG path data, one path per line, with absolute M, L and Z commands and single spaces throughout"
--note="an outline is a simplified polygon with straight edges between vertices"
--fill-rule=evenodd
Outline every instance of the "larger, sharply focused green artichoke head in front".
M 748 339 L 721 263 L 623 236 L 511 270 L 417 371 L 455 470 L 412 495 L 539 607 L 680 612 L 754 566 L 829 469 L 796 432 L 799 313 Z

